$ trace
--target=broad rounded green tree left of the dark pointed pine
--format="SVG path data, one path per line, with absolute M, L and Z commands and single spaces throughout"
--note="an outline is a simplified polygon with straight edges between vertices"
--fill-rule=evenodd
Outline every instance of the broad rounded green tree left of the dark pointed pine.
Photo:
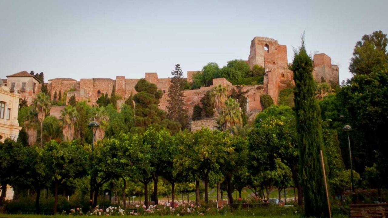
M 166 112 L 159 109 L 159 101 L 163 92 L 155 84 L 140 79 L 135 85 L 137 93 L 133 95 L 135 101 L 135 126 L 131 132 L 144 132 L 153 127 L 156 130 L 167 128 L 172 133 L 180 131 L 180 124 L 167 118 Z

